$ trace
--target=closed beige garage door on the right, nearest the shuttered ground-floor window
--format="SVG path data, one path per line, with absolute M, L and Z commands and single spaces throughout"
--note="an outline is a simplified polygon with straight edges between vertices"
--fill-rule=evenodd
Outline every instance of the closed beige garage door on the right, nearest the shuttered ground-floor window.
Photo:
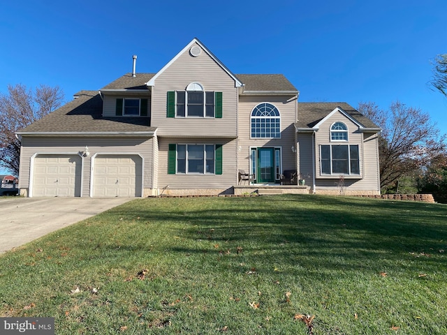
M 140 197 L 142 159 L 138 155 L 98 155 L 94 158 L 94 197 Z

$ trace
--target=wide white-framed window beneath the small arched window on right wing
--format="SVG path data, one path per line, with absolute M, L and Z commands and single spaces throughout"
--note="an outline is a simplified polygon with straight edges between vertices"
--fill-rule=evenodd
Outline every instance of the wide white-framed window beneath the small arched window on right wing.
M 321 145 L 321 174 L 360 174 L 358 145 Z

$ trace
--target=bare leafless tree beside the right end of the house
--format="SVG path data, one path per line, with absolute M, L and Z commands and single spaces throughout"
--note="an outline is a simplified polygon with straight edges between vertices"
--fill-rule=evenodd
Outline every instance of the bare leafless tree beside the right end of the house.
M 446 151 L 446 137 L 420 109 L 396 101 L 381 110 L 375 103 L 360 103 L 358 110 L 382 128 L 379 137 L 381 187 L 430 164 Z

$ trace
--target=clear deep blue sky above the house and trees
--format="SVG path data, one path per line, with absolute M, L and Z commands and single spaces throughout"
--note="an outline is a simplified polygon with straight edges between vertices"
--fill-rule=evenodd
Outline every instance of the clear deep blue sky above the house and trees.
M 445 0 L 2 1 L 0 92 L 59 85 L 66 101 L 132 70 L 156 73 L 197 37 L 233 73 L 283 73 L 301 102 L 399 100 L 447 133 L 432 64 Z

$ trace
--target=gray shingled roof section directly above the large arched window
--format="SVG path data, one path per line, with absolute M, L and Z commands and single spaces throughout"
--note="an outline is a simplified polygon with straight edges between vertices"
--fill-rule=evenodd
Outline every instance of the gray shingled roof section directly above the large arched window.
M 244 91 L 298 91 L 284 75 L 235 75 Z

